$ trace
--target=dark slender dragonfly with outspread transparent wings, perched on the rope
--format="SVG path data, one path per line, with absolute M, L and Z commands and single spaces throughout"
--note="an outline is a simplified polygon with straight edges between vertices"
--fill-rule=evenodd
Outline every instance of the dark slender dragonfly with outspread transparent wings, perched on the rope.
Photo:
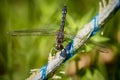
M 61 24 L 60 24 L 60 28 L 58 30 L 58 32 L 50 32 L 50 30 L 48 29 L 32 29 L 32 30 L 14 30 L 14 31 L 11 31 L 11 32 L 8 32 L 8 34 L 10 36 L 55 36 L 56 35 L 56 46 L 55 46 L 55 49 L 57 51 L 60 51 L 62 50 L 64 47 L 63 47 L 63 42 L 65 41 L 65 38 L 66 39 L 73 39 L 74 35 L 72 34 L 71 35 L 68 35 L 64 32 L 64 26 L 65 26 L 65 20 L 66 20 L 66 14 L 67 14 L 67 6 L 64 4 L 63 8 L 62 8 L 62 18 L 61 18 Z M 93 45 L 98 45 L 99 47 L 103 47 L 103 45 L 99 45 L 97 43 L 94 43 L 92 41 L 90 41 L 90 43 L 92 43 Z M 100 52 L 104 52 L 102 50 L 99 50 L 98 51 Z

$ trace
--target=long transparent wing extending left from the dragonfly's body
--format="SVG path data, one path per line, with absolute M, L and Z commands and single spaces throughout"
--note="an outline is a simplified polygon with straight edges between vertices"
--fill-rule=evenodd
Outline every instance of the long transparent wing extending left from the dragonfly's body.
M 10 36 L 55 36 L 56 31 L 49 29 L 32 29 L 32 30 L 14 30 L 8 32 Z

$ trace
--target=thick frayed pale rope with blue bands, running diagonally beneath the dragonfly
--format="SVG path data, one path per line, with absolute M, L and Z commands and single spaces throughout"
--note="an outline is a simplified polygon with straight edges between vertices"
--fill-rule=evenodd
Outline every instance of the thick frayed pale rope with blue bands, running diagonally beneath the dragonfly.
M 105 2 L 104 0 L 102 2 Z M 103 3 L 104 4 L 104 3 Z M 120 9 L 120 0 L 110 0 L 108 5 L 99 6 L 97 14 L 83 29 L 78 31 L 76 37 L 68 43 L 68 45 L 56 53 L 55 59 L 49 61 L 47 65 L 41 69 L 33 69 L 32 75 L 27 80 L 47 80 L 48 75 L 53 73 L 61 64 L 68 61 L 76 54 L 80 48 L 90 37 L 94 36 L 101 27 Z

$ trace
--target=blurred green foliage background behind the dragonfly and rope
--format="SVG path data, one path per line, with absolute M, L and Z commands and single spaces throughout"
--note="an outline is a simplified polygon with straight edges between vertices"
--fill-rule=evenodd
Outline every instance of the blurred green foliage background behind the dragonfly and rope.
M 76 34 L 84 24 L 88 23 L 98 13 L 99 1 L 0 0 L 0 80 L 25 80 L 30 75 L 30 69 L 41 68 L 47 63 L 48 54 L 54 46 L 56 38 L 55 36 L 12 37 L 7 32 L 40 29 L 41 27 L 58 30 L 61 23 L 61 10 L 63 5 L 66 4 L 68 13 L 65 31 L 68 34 Z M 98 53 L 97 50 L 93 51 L 94 48 L 89 49 L 85 46 L 84 54 L 82 52 L 83 55 L 76 55 L 64 67 L 74 66 L 75 64 L 72 61 L 79 63 L 82 58 L 88 59 L 88 61 L 90 58 L 90 65 L 87 68 L 86 66 L 80 69 L 75 68 L 73 72 L 69 72 L 70 70 L 65 68 L 67 75 L 62 76 L 62 80 L 120 80 L 119 14 L 120 11 L 92 39 L 107 46 L 107 50 L 111 54 L 97 54 L 100 57 L 93 57 Z M 100 35 L 101 32 L 104 33 L 102 36 Z M 96 47 L 96 45 L 93 47 Z M 86 55 L 88 57 L 85 57 Z M 99 59 L 103 61 L 101 62 Z M 79 66 L 79 64 L 75 66 Z

